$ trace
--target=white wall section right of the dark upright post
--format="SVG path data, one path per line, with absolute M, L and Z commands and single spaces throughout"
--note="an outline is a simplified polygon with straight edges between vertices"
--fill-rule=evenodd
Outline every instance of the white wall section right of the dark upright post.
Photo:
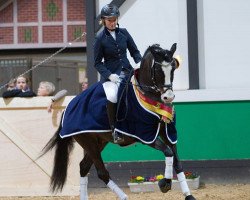
M 197 2 L 201 87 L 250 88 L 250 1 Z

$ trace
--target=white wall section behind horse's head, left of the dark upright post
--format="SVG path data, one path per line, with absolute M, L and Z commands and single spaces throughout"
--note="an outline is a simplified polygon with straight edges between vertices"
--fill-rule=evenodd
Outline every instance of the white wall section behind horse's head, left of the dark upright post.
M 188 88 L 188 59 L 185 0 L 126 0 L 120 8 L 120 27 L 128 29 L 141 54 L 148 46 L 158 43 L 170 49 L 177 43 L 183 65 L 176 70 L 174 88 Z M 130 59 L 133 64 L 133 60 Z

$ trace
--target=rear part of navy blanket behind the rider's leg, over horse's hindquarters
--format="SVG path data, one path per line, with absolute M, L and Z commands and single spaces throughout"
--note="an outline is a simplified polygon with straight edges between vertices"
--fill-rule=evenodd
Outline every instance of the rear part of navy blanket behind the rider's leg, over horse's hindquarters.
M 110 131 L 107 99 L 101 83 L 96 83 L 70 101 L 63 115 L 60 136 L 84 132 Z

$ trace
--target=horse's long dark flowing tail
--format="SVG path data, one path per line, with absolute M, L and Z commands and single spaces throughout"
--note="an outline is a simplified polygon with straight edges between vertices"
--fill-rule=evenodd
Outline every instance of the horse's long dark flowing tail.
M 67 170 L 69 163 L 69 154 L 74 147 L 74 142 L 72 137 L 61 138 L 59 132 L 62 128 L 62 123 L 60 123 L 59 128 L 55 132 L 54 136 L 49 140 L 42 150 L 39 157 L 43 156 L 54 147 L 54 168 L 52 176 L 50 179 L 50 188 L 52 192 L 62 191 L 64 183 L 67 178 Z

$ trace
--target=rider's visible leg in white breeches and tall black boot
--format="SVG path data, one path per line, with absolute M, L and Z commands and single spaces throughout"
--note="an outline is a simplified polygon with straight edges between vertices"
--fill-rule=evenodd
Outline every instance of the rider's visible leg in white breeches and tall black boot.
M 114 138 L 115 143 L 123 142 L 122 135 L 119 135 L 115 131 L 115 122 L 116 122 L 116 111 L 117 111 L 117 93 L 118 93 L 118 87 L 119 85 L 116 83 L 113 83 L 111 81 L 107 81 L 103 83 L 103 88 L 105 91 L 105 94 L 107 96 L 107 114 L 109 119 L 110 128 L 112 131 L 112 136 Z

